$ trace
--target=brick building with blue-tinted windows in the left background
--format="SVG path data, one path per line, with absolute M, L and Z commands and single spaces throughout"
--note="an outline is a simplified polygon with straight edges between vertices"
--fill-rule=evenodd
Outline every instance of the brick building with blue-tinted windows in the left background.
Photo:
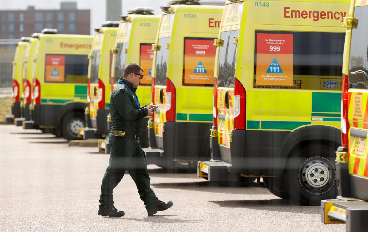
M 76 2 L 62 2 L 60 10 L 0 11 L 0 39 L 31 36 L 43 28 L 56 28 L 58 33 L 90 35 L 90 10 L 78 10 Z

